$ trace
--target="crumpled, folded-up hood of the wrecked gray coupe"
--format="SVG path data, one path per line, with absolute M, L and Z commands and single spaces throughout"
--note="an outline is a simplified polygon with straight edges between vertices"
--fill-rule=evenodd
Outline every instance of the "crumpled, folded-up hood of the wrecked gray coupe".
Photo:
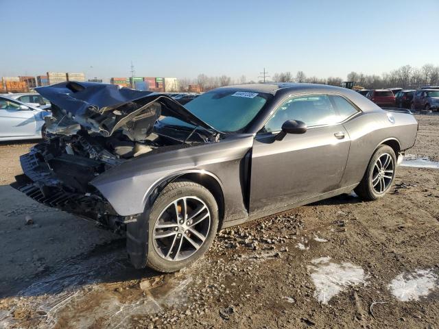
M 51 131 L 49 125 L 53 129 L 68 127 L 64 132 L 52 129 L 54 133 L 74 133 L 80 124 L 89 132 L 108 137 L 119 128 L 125 129 L 126 123 L 139 121 L 139 118 L 146 119 L 147 124 L 143 126 L 150 128 L 161 115 L 215 131 L 166 95 L 94 82 L 62 82 L 36 90 L 60 109 L 54 109 L 53 118 L 47 121 L 48 130 Z

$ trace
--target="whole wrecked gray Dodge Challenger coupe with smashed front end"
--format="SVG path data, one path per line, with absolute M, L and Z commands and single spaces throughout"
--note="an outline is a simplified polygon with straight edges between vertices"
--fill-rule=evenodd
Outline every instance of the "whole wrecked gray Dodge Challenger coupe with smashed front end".
M 186 107 L 157 93 L 67 82 L 47 141 L 21 156 L 14 186 L 36 201 L 126 232 L 134 267 L 176 271 L 220 228 L 355 191 L 391 188 L 418 123 L 353 90 L 250 84 Z

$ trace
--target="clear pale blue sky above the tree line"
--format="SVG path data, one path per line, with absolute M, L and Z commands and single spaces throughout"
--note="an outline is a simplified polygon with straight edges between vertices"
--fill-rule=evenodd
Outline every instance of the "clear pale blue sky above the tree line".
M 0 0 L 0 75 L 257 80 L 439 65 L 439 0 Z M 431 30 L 431 32 L 428 32 Z M 93 67 L 91 67 L 93 66 Z

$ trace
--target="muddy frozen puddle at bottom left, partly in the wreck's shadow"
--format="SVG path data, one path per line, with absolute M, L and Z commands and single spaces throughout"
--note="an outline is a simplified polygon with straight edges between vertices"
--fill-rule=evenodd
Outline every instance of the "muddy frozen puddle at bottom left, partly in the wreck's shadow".
M 69 260 L 14 294 L 10 310 L 0 312 L 0 328 L 21 327 L 21 321 L 32 322 L 31 328 L 126 328 L 133 315 L 187 305 L 191 277 L 133 269 L 124 245 L 118 243 L 102 249 L 105 252 Z M 158 280 L 152 288 L 140 289 L 141 278 L 154 276 Z M 32 315 L 14 318 L 14 311 Z

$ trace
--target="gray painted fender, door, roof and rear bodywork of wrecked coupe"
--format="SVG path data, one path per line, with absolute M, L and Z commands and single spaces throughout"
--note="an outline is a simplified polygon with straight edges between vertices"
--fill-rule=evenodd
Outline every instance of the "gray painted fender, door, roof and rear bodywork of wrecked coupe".
M 386 112 L 346 88 L 251 84 L 222 89 L 271 93 L 274 98 L 241 134 L 229 135 L 219 143 L 145 154 L 95 178 L 91 184 L 119 215 L 143 212 L 152 191 L 161 182 L 198 172 L 211 175 L 221 186 L 224 222 L 254 219 L 307 203 L 306 200 L 312 202 L 344 193 L 360 182 L 381 143 L 394 141 L 404 150 L 412 147 L 416 138 L 418 124 L 410 112 Z M 274 135 L 257 134 L 287 97 L 309 93 L 341 95 L 357 106 L 359 112 L 337 125 L 309 129 L 301 136 L 289 134 L 283 141 L 273 141 Z M 344 132 L 345 138 L 335 141 L 335 132 Z M 244 158 L 249 152 L 252 161 L 245 168 Z M 250 175 L 250 184 L 243 182 L 243 170 Z

